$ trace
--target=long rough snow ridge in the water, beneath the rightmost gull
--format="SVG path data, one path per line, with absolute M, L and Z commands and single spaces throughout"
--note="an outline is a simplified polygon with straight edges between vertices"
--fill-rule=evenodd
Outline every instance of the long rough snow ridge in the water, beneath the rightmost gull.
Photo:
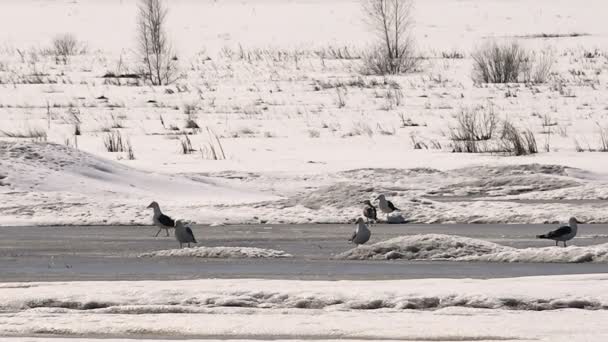
M 496 243 L 443 234 L 401 236 L 359 246 L 338 259 L 406 259 L 485 262 L 608 263 L 608 244 L 593 246 L 530 247 L 517 249 Z

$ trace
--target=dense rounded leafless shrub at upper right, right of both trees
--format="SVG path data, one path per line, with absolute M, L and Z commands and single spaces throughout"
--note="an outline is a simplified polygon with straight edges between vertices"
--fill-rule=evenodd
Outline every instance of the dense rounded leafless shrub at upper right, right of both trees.
M 473 51 L 471 58 L 475 82 L 517 83 L 523 81 L 530 56 L 516 41 L 491 41 Z

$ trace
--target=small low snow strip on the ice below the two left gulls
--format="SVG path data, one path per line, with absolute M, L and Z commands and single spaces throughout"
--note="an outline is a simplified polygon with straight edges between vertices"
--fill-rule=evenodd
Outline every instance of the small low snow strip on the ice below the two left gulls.
M 276 249 L 256 247 L 193 247 L 168 249 L 140 254 L 139 257 L 196 257 L 196 258 L 290 258 L 291 254 Z

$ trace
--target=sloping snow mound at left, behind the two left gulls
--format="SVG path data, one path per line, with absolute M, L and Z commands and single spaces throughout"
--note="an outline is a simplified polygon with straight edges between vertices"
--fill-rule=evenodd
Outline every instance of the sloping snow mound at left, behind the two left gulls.
M 140 171 L 51 143 L 0 141 L 0 178 L 0 224 L 6 225 L 151 224 L 146 206 L 152 200 L 189 219 L 192 206 L 276 199 L 208 177 Z

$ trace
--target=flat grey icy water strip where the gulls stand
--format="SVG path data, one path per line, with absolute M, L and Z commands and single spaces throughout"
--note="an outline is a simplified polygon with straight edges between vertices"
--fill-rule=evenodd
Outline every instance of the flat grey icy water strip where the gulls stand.
M 413 234 L 450 234 L 516 248 L 552 246 L 535 235 L 555 225 L 375 225 L 370 243 Z M 169 280 L 197 278 L 415 279 L 496 278 L 606 272 L 606 264 L 335 260 L 351 249 L 351 225 L 197 226 L 199 246 L 259 247 L 292 258 L 139 257 L 177 248 L 153 227 L 5 227 L 0 274 L 9 281 Z M 583 225 L 571 245 L 608 242 L 608 225 Z

